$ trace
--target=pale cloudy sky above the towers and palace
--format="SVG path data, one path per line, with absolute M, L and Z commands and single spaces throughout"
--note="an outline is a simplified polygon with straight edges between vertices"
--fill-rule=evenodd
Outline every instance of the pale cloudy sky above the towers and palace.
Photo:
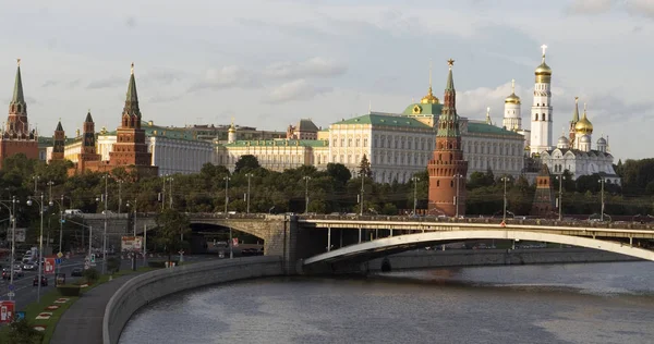
M 143 119 L 286 131 L 368 108 L 401 112 L 422 98 L 433 63 L 443 98 L 455 59 L 457 108 L 501 125 L 516 79 L 530 126 L 534 69 L 547 45 L 554 144 L 574 97 L 588 103 L 593 145 L 617 159 L 652 157 L 652 0 L 32 0 L 0 5 L 0 100 L 16 58 L 31 125 L 68 136 L 90 112 L 116 128 L 135 63 Z M 4 81 L 4 82 L 1 82 Z

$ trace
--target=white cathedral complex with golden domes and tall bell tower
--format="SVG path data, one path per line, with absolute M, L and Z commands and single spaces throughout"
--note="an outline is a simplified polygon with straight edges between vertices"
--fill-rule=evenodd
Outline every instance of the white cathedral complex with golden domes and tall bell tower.
M 531 130 L 521 128 L 520 98 L 514 88 L 505 99 L 505 114 L 502 124 L 505 128 L 524 135 L 524 149 L 529 151 L 528 159 L 534 159 L 546 164 L 554 174 L 568 170 L 572 179 L 582 175 L 600 174 L 606 183 L 621 184 L 616 174 L 609 152 L 608 136 L 600 137 L 593 147 L 593 124 L 589 120 L 588 109 L 584 105 L 583 115 L 579 116 L 579 98 L 574 98 L 574 111 L 570 127 L 553 143 L 553 108 L 552 108 L 552 69 L 545 63 L 545 49 L 542 46 L 543 57 L 536 67 L 533 102 L 531 108 Z

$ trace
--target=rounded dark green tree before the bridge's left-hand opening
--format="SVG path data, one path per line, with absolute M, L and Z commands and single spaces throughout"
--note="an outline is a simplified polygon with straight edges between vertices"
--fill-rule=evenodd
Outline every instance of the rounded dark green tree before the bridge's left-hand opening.
M 156 222 L 159 231 L 155 241 L 168 251 L 168 261 L 170 261 L 172 253 L 175 249 L 182 248 L 182 235 L 189 237 L 191 233 L 189 217 L 174 209 L 165 209 L 157 214 Z

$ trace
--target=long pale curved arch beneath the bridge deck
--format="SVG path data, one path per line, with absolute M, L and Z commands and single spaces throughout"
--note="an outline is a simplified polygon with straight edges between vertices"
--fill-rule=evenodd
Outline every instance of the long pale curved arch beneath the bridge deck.
M 654 261 L 654 251 L 632 247 L 616 242 L 608 242 L 582 236 L 571 236 L 552 233 L 540 233 L 530 231 L 437 231 L 417 234 L 405 234 L 389 236 L 385 238 L 346 246 L 328 253 L 319 254 L 303 261 L 304 266 L 318 262 L 335 262 L 343 260 L 361 259 L 363 257 L 374 259 L 389 254 L 413 249 L 421 246 L 429 246 L 429 243 L 458 242 L 465 239 L 517 239 L 548 242 L 564 245 L 581 246 L 586 248 L 611 251 L 616 254 L 637 257 Z M 367 260 L 367 259 L 366 259 Z

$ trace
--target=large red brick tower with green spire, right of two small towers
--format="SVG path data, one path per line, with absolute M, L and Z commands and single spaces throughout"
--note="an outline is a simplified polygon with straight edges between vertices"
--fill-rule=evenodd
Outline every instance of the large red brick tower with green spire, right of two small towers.
M 153 155 L 147 151 L 145 143 L 145 131 L 141 128 L 141 110 L 138 109 L 138 95 L 136 94 L 136 81 L 134 79 L 134 63 L 128 86 L 128 96 L 122 112 L 121 126 L 117 131 L 117 142 L 109 152 L 109 164 L 111 167 L 135 167 L 137 170 L 153 170 Z M 144 169 L 147 167 L 147 169 Z

